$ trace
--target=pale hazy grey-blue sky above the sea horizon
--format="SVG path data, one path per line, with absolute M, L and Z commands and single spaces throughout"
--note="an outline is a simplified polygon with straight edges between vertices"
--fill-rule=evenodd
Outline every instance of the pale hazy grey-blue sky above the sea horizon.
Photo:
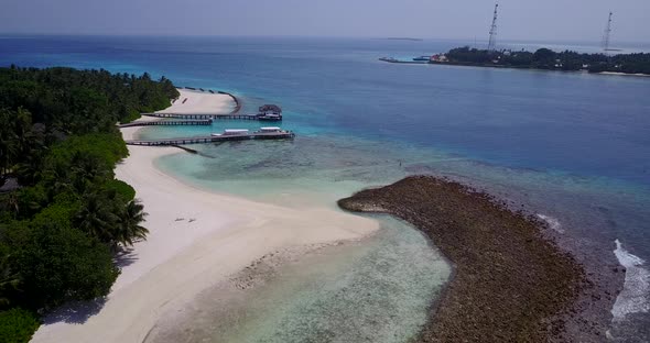
M 2 34 L 416 37 L 487 40 L 495 1 L 327 3 L 299 0 L 10 0 Z M 562 10 L 557 10 L 562 9 Z M 609 11 L 611 41 L 648 42 L 650 1 L 499 2 L 502 41 L 599 42 Z M 578 23 L 579 25 L 575 25 Z

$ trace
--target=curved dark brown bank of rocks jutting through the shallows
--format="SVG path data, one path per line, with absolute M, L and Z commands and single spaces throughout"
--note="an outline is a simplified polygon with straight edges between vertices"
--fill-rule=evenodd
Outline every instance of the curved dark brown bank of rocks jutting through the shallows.
M 600 341 L 579 302 L 592 288 L 583 266 L 544 235 L 546 223 L 492 196 L 432 176 L 359 191 L 338 201 L 357 212 L 396 215 L 421 230 L 454 265 L 419 342 Z M 579 319 L 577 319 L 579 321 Z M 571 322 L 571 324 L 570 324 Z

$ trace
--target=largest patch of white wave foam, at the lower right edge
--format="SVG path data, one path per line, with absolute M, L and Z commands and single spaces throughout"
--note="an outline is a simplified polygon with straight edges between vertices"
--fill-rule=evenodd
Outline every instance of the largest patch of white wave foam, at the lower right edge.
M 630 313 L 650 311 L 650 272 L 642 267 L 646 262 L 628 253 L 618 240 L 616 240 L 614 254 L 626 267 L 622 290 L 611 308 L 614 321 L 622 321 Z

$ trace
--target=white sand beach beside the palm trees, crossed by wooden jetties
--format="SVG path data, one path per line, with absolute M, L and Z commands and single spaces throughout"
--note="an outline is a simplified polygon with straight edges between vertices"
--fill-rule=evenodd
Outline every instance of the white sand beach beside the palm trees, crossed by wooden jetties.
M 181 92 L 165 111 L 227 112 L 234 106 L 225 95 Z M 131 139 L 138 130 L 122 134 Z M 122 257 L 122 273 L 96 314 L 86 319 L 83 311 L 62 309 L 32 342 L 142 342 L 163 313 L 182 309 L 268 253 L 359 239 L 379 228 L 373 220 L 327 208 L 296 210 L 185 185 L 153 165 L 160 156 L 184 153 L 177 148 L 129 146 L 129 152 L 116 175 L 144 203 L 148 240 Z

